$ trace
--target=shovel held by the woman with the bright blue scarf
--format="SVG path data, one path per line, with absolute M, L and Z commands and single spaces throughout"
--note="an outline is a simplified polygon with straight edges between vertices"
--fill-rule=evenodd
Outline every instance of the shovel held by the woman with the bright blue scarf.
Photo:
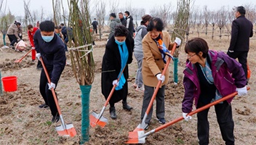
M 121 75 L 124 72 L 126 66 L 124 66 L 123 70 L 121 70 L 121 73 L 119 75 L 119 78 L 117 79 L 117 82 L 121 78 Z M 105 107 L 108 105 L 108 101 L 111 99 L 111 96 L 113 95 L 113 91 L 115 91 L 116 85 L 113 85 L 113 88 L 111 89 L 111 93 L 108 95 L 108 99 L 105 101 L 105 104 L 103 106 L 103 109 L 101 109 L 100 114 L 97 114 L 96 112 L 92 112 L 91 115 L 89 115 L 89 124 L 94 128 L 96 125 L 100 125 L 101 128 L 104 128 L 104 126 L 108 123 L 108 119 L 103 117 L 103 112 L 105 111 Z

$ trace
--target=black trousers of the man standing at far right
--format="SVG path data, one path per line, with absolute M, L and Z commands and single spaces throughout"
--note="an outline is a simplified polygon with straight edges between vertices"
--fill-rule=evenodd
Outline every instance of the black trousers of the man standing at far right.
M 234 51 L 234 52 L 229 52 L 228 51 L 228 56 L 233 58 L 233 59 L 239 59 L 239 63 L 241 64 L 241 67 L 243 67 L 245 77 L 247 78 L 247 55 L 248 51 Z

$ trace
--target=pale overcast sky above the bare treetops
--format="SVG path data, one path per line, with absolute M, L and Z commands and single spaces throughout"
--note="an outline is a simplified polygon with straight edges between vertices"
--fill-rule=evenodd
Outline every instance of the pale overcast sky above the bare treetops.
M 25 0 L 28 1 L 28 0 Z M 95 0 L 91 0 L 95 1 Z M 161 6 L 163 4 L 169 4 L 171 2 L 173 7 L 176 7 L 176 1 L 177 0 L 104 0 L 107 2 L 107 4 L 110 3 L 110 1 L 119 1 L 119 8 L 126 7 L 126 4 L 131 4 L 132 7 L 137 8 L 144 8 L 146 10 L 146 13 L 149 12 L 150 9 L 156 6 Z M 244 4 L 250 4 L 250 5 L 256 5 L 255 0 L 193 0 L 194 1 L 194 7 L 203 8 L 204 6 L 207 6 L 210 10 L 213 9 L 220 9 L 220 7 L 225 6 L 229 9 L 232 9 L 233 7 L 237 7 Z M 15 16 L 23 16 L 24 15 L 24 3 L 23 0 L 4 0 L 4 2 L 7 2 L 7 9 L 9 9 L 12 14 Z M 113 3 L 113 2 L 112 2 Z M 63 4 L 67 6 L 66 0 L 63 0 Z M 44 12 L 46 14 L 52 14 L 52 0 L 31 0 L 30 2 L 30 9 L 31 12 L 38 11 L 39 14 L 41 13 L 41 7 L 43 7 Z M 106 7 L 106 14 L 108 14 L 110 9 L 110 6 Z M 175 8 L 176 9 L 176 8 Z M 1 9 L 1 12 L 3 12 L 3 8 Z

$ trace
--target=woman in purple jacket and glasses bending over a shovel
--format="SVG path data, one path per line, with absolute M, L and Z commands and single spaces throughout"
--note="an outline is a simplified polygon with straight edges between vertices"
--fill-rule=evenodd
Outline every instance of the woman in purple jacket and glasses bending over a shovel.
M 241 64 L 222 51 L 209 50 L 207 41 L 192 38 L 185 44 L 188 54 L 183 78 L 185 88 L 182 111 L 185 120 L 193 104 L 196 109 L 237 91 L 239 96 L 247 94 L 247 79 Z M 217 123 L 225 144 L 235 144 L 231 99 L 215 104 Z M 199 144 L 209 144 L 208 109 L 197 113 L 197 136 Z M 211 113 L 212 114 L 212 113 Z M 216 126 L 217 127 L 217 126 Z M 215 127 L 215 128 L 216 128 Z

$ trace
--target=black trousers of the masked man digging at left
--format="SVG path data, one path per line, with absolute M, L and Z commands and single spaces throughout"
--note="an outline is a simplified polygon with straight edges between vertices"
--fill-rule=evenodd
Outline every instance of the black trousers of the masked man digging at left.
M 52 70 L 48 70 L 48 73 L 49 73 L 49 78 L 51 78 Z M 57 83 L 55 85 L 57 87 Z M 52 95 L 52 91 L 49 90 L 48 88 L 49 86 L 47 81 L 47 75 L 45 74 L 43 69 L 41 70 L 41 77 L 40 77 L 40 84 L 39 84 L 40 93 L 41 93 L 41 96 L 43 96 L 45 104 L 47 104 L 51 109 L 52 116 L 55 116 L 57 115 L 57 107 L 55 104 L 55 99 L 53 98 L 53 95 Z

